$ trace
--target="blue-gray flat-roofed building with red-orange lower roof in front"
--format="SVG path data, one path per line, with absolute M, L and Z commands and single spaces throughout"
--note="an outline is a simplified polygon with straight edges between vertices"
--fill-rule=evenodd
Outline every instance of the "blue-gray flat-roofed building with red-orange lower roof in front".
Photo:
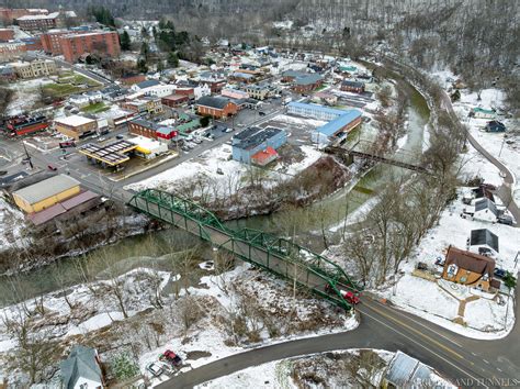
M 265 165 L 273 159 L 273 151 L 286 142 L 287 133 L 284 130 L 249 127 L 233 137 L 233 159 L 245 164 Z

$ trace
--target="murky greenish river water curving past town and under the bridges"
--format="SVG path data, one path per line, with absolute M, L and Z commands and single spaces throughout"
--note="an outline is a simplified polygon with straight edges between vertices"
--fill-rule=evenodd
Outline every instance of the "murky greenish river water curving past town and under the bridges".
M 398 155 L 400 160 L 414 163 L 423 151 L 429 109 L 416 89 L 408 87 L 407 95 L 407 133 L 399 142 Z M 364 138 L 363 127 L 360 131 L 361 133 L 353 133 L 351 136 Z M 348 227 L 349 223 L 357 220 L 357 215 L 370 209 L 374 197 L 387 182 L 409 174 L 408 170 L 396 166 L 378 164 L 353 185 L 346 186 L 309 207 L 240 219 L 226 224 L 233 229 L 247 226 L 293 236 L 297 243 L 319 253 L 325 248 L 321 229 L 327 232 L 328 243 L 338 242 L 344 226 Z M 182 252 L 197 244 L 204 248 L 201 257 L 211 259 L 212 251 L 208 245 L 181 230 L 168 229 L 131 236 L 87 255 L 61 259 L 58 262 L 58 270 L 54 266 L 47 266 L 15 278 L 0 277 L 0 305 L 82 284 L 84 278 L 78 265 L 84 265 L 97 278 L 103 278 L 108 267 L 115 268 L 121 274 L 137 267 L 171 270 L 171 258 L 168 254 Z M 56 273 L 59 273 L 59 277 Z M 23 293 L 13 293 L 13 289 L 22 289 Z

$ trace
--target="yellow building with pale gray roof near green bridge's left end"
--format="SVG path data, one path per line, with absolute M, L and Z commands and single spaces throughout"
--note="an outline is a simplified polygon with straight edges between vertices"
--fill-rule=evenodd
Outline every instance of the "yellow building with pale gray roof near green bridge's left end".
M 80 192 L 79 181 L 57 175 L 12 193 L 14 203 L 25 213 L 39 212 Z

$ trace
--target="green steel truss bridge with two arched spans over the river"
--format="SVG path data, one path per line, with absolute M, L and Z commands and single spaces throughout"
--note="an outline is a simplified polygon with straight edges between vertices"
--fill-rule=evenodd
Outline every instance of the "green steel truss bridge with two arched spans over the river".
M 134 194 L 128 205 L 149 216 L 173 224 L 235 256 L 272 274 L 296 281 L 315 294 L 344 309 L 352 308 L 341 291 L 361 288 L 329 259 L 289 240 L 262 231 L 226 227 L 215 214 L 178 194 L 146 189 Z

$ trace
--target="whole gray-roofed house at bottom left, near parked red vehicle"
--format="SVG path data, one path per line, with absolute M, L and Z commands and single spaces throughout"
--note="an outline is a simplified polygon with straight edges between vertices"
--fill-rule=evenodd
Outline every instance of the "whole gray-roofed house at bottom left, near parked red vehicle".
M 103 388 L 103 373 L 94 348 L 76 345 L 60 366 L 63 386 L 66 389 Z

